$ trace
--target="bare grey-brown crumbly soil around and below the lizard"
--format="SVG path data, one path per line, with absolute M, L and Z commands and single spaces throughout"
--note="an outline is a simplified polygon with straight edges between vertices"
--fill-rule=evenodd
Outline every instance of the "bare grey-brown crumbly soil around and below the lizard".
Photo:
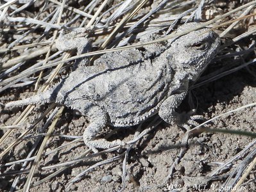
M 212 62 L 204 74 L 214 70 L 220 65 L 219 61 Z M 231 59 L 229 62 L 232 62 Z M 216 115 L 236 109 L 246 104 L 256 102 L 256 83 L 252 72 L 255 71 L 255 66 L 250 66 L 235 72 L 234 74 L 222 77 L 211 83 L 204 84 L 198 88 L 194 88 L 191 92 L 193 100 L 198 101 L 197 114 L 203 115 L 206 119 L 210 119 Z M 203 75 L 204 75 L 203 74 Z M 11 92 L 5 92 L 1 96 L 1 101 L 23 99 L 31 95 L 30 88 L 24 90 L 13 89 Z M 186 103 L 187 100 L 184 100 Z M 185 106 L 185 104 L 184 104 Z M 32 112 L 28 123 L 32 123 L 48 106 L 37 106 Z M 21 114 L 21 108 L 13 108 L 12 111 L 4 111 L 1 115 L 1 123 L 11 125 L 12 122 Z M 218 129 L 232 129 L 241 131 L 255 132 L 255 107 L 245 108 L 230 115 L 222 116 L 210 122 L 206 127 L 214 127 Z M 149 120 L 150 121 L 150 120 Z M 149 124 L 145 122 L 142 128 Z M 88 124 L 85 116 L 80 116 L 74 113 L 71 109 L 66 108 L 60 121 L 55 129 L 55 136 L 51 136 L 47 141 L 46 152 L 49 152 L 60 145 L 70 143 L 73 139 L 68 139 L 59 136 L 65 134 L 69 136 L 81 136 L 83 127 Z M 40 124 L 44 125 L 44 122 Z M 25 126 L 26 127 L 26 126 Z M 24 131 L 24 127 L 21 128 Z M 135 127 L 120 129 L 112 138 L 121 138 L 132 140 L 135 134 Z M 109 132 L 109 130 L 105 130 Z M 3 135 L 4 131 L 1 131 Z M 19 136 L 19 132 L 14 132 L 12 139 Z M 237 161 L 232 161 L 232 164 L 218 174 L 211 177 L 215 170 L 221 164 L 228 161 L 243 150 L 249 143 L 253 141 L 248 136 L 223 133 L 202 133 L 194 134 L 189 138 L 189 147 L 182 157 L 180 162 L 175 165 L 173 175 L 162 186 L 161 184 L 166 179 L 171 170 L 176 157 L 180 152 L 180 143 L 185 134 L 185 130 L 180 127 L 172 126 L 162 122 L 156 129 L 142 138 L 136 147 L 133 148 L 128 156 L 126 164 L 126 188 L 124 191 L 171 191 L 172 189 L 180 189 L 181 191 L 198 191 L 205 189 L 207 191 L 218 191 L 221 185 L 225 182 L 228 175 L 239 166 L 244 156 Z M 36 135 L 35 132 L 32 135 Z M 6 162 L 15 161 L 17 159 L 26 158 L 30 152 L 33 138 L 22 140 L 17 147 L 12 150 L 10 159 Z M 12 140 L 8 140 L 11 142 Z M 10 143 L 4 143 L 8 145 Z M 255 145 L 252 146 L 255 148 Z M 40 180 L 50 173 L 55 171 L 55 168 L 44 167 L 55 165 L 74 159 L 78 154 L 87 150 L 83 141 L 68 145 L 64 150 L 49 154 L 42 157 L 39 167 L 42 168 L 35 173 L 33 182 Z M 122 152 L 122 151 L 121 151 Z M 86 161 L 82 161 L 73 166 L 69 166 L 64 172 L 60 173 L 51 180 L 47 180 L 43 184 L 30 189 L 31 191 L 64 191 L 66 185 L 76 175 L 83 172 L 89 166 L 98 163 L 104 159 L 117 156 L 121 153 L 112 152 L 103 154 L 102 156 L 94 157 Z M 112 163 L 98 166 L 87 172 L 83 177 L 74 182 L 67 191 L 117 191 L 122 186 L 122 162 L 114 161 Z M 21 164 L 1 168 L 2 173 L 19 170 Z M 25 182 L 25 175 L 21 175 L 22 182 Z M 6 175 L 1 178 L 1 191 L 10 189 L 10 184 L 13 182 L 14 175 Z M 239 188 L 241 191 L 255 190 L 255 170 L 247 177 L 247 182 Z

